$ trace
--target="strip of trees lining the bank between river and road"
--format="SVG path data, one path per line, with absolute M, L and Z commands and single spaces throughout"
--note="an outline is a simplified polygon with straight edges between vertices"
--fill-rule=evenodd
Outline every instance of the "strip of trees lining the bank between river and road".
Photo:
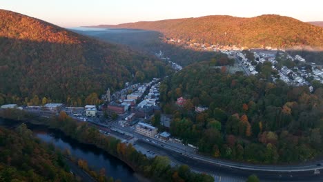
M 131 144 L 121 143 L 119 139 L 104 136 L 96 128 L 88 127 L 87 123 L 78 123 L 61 112 L 59 117 L 49 119 L 35 117 L 21 110 L 0 111 L 0 117 L 15 121 L 29 122 L 35 125 L 45 125 L 56 129 L 66 136 L 89 145 L 94 145 L 112 156 L 124 161 L 135 172 L 151 179 L 152 181 L 214 181 L 208 174 L 192 172 L 188 165 L 170 166 L 170 160 L 166 156 L 156 156 L 148 159 L 144 154 L 137 152 Z

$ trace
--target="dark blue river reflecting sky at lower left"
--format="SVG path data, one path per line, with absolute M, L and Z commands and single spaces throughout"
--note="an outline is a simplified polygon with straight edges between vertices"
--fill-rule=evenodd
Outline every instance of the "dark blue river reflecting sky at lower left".
M 0 125 L 5 126 L 6 128 L 12 128 L 11 125 L 4 124 L 1 119 Z M 142 176 L 134 172 L 128 165 L 126 165 L 126 163 L 99 148 L 79 143 L 78 141 L 70 139 L 63 133 L 55 130 L 48 130 L 37 125 L 27 125 L 41 141 L 52 143 L 56 148 L 60 148 L 61 150 L 69 150 L 73 157 L 86 160 L 88 162 L 88 166 L 92 170 L 99 171 L 101 168 L 104 168 L 106 170 L 106 176 L 112 176 L 113 179 L 120 179 L 123 182 L 147 181 L 147 179 L 144 179 Z

